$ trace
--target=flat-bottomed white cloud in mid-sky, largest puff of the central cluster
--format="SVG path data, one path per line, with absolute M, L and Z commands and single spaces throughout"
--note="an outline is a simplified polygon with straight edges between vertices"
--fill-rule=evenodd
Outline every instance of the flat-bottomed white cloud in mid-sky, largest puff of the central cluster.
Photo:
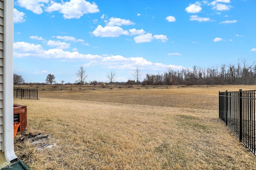
M 129 35 L 127 30 L 123 30 L 121 27 L 114 26 L 106 26 L 102 27 L 98 25 L 98 27 L 92 32 L 92 34 L 96 37 L 119 37 L 120 35 Z

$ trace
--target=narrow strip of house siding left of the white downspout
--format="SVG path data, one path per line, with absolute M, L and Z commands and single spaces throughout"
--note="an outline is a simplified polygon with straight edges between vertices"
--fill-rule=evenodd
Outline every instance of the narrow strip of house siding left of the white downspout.
M 4 2 L 0 0 L 0 150 L 3 147 Z

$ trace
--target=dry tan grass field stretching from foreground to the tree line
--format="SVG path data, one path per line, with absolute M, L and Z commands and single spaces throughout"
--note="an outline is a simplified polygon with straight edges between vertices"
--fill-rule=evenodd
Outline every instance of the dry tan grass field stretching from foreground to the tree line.
M 32 170 L 256 169 L 256 156 L 218 117 L 218 91 L 256 86 L 25 88 L 39 98 L 14 100 L 27 106 L 27 132 L 56 143 L 36 150 L 15 140 Z

